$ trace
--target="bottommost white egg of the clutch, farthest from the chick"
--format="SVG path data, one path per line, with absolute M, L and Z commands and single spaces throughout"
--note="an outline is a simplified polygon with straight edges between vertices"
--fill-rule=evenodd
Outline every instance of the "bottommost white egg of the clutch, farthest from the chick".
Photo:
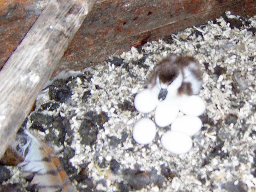
M 171 153 L 183 154 L 192 148 L 192 139 L 190 136 L 177 132 L 168 131 L 161 137 L 162 146 Z

